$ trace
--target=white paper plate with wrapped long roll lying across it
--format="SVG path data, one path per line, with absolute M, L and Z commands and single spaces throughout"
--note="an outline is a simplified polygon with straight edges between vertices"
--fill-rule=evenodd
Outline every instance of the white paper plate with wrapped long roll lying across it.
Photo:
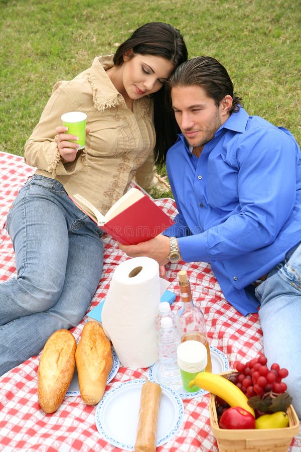
M 144 379 L 130 380 L 104 394 L 96 407 L 95 422 L 98 432 L 110 444 L 125 450 L 134 450 L 140 395 Z M 157 447 L 178 433 L 183 423 L 182 399 L 171 388 L 162 388 L 158 420 Z

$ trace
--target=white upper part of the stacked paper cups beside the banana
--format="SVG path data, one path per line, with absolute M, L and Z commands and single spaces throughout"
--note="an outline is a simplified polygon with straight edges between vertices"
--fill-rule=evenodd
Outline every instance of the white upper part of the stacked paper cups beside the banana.
M 178 366 L 186 372 L 202 372 L 207 366 L 207 350 L 199 341 L 182 342 L 177 349 Z

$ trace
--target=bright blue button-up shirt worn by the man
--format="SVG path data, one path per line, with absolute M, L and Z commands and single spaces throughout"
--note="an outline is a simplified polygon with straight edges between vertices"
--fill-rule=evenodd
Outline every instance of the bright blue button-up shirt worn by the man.
M 301 153 L 293 136 L 241 107 L 199 159 L 183 135 L 167 154 L 179 214 L 165 231 L 186 262 L 209 262 L 225 298 L 257 311 L 249 286 L 301 240 Z

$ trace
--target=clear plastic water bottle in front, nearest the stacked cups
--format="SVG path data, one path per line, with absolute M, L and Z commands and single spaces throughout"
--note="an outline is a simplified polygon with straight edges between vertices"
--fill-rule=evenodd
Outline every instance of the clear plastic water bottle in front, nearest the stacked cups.
M 161 383 L 173 389 L 182 386 L 180 369 L 177 362 L 177 349 L 180 344 L 177 329 L 170 317 L 161 319 L 158 338 L 158 356 Z

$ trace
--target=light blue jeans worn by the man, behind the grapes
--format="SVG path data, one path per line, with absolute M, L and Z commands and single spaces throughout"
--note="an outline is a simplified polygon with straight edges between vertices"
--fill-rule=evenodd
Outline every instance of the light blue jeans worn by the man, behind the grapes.
M 268 365 L 288 370 L 283 379 L 301 418 L 301 244 L 294 247 L 255 289 Z

